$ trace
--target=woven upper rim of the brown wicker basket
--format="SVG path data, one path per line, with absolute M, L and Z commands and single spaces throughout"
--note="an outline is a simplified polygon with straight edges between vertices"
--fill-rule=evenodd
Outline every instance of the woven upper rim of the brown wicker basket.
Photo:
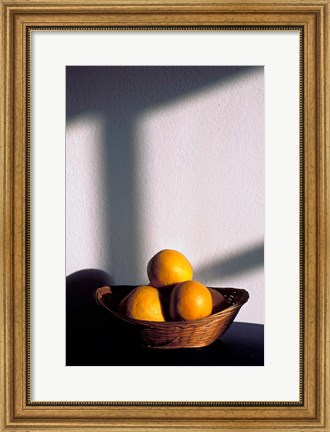
M 128 286 L 128 285 L 127 285 Z M 116 285 L 113 285 L 112 288 L 115 288 Z M 132 289 L 134 288 L 134 286 L 132 285 Z M 214 314 L 211 314 L 205 318 L 200 318 L 197 320 L 189 320 L 189 321 L 145 321 L 145 320 L 137 320 L 134 318 L 129 318 L 126 317 L 122 314 L 120 314 L 118 311 L 114 310 L 113 308 L 111 308 L 108 304 L 106 304 L 105 302 L 103 302 L 102 297 L 105 294 L 112 294 L 111 291 L 111 286 L 103 286 L 100 288 L 97 288 L 94 292 L 94 298 L 96 303 L 102 307 L 103 309 L 109 311 L 110 313 L 112 313 L 113 315 L 115 315 L 117 318 L 126 321 L 130 324 L 134 324 L 134 325 L 140 325 L 140 326 L 144 326 L 144 327 L 157 327 L 157 328 L 173 328 L 173 327 L 196 327 L 196 326 L 201 326 L 204 324 L 207 324 L 209 322 L 212 321 L 216 321 L 217 319 L 226 316 L 226 315 L 231 315 L 235 310 L 240 309 L 242 307 L 242 305 L 244 303 L 246 303 L 249 299 L 249 293 L 248 291 L 246 291 L 243 288 L 234 288 L 234 287 L 209 287 L 209 288 L 213 288 L 216 290 L 235 290 L 237 292 L 239 292 L 241 294 L 241 298 L 239 301 L 233 303 L 232 305 L 228 306 L 226 309 L 223 309 L 222 311 L 216 312 Z

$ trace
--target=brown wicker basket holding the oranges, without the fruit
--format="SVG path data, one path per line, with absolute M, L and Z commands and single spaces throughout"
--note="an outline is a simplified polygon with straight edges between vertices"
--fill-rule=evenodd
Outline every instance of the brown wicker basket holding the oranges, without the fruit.
M 249 299 L 247 291 L 238 288 L 215 288 L 226 299 L 228 307 L 206 318 L 194 321 L 141 321 L 118 313 L 118 305 L 135 286 L 102 287 L 95 291 L 99 306 L 126 322 L 142 346 L 158 349 L 200 348 L 216 341 L 231 325 L 240 308 Z

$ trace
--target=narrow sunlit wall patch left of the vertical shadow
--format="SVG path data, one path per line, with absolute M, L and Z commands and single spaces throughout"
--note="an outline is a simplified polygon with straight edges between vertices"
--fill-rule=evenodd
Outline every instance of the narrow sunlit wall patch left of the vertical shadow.
M 102 268 L 108 257 L 103 226 L 103 121 L 89 113 L 66 129 L 66 274 Z

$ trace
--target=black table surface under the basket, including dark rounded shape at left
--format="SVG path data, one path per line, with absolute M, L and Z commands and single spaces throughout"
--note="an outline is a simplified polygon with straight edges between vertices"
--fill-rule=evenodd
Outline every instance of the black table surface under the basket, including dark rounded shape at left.
M 110 285 L 104 272 L 83 270 L 67 278 L 67 366 L 263 366 L 264 326 L 234 322 L 203 348 L 143 348 L 127 327 L 94 300 L 94 291 Z

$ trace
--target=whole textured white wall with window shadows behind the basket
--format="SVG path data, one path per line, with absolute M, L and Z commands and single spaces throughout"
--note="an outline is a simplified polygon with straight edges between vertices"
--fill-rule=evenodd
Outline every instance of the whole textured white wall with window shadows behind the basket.
M 264 322 L 262 67 L 68 67 L 66 270 L 147 282 L 164 248 Z

